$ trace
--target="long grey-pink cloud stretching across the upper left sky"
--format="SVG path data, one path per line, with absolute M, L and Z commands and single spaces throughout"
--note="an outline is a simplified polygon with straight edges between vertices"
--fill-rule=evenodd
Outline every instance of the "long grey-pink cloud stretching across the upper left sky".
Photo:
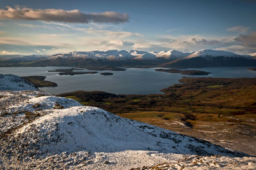
M 82 13 L 79 10 L 65 11 L 61 9 L 34 10 L 32 8 L 12 8 L 6 6 L 7 10 L 0 9 L 0 20 L 41 20 L 46 22 L 68 22 L 68 23 L 121 23 L 128 22 L 127 13 L 116 13 L 106 11 L 104 13 Z

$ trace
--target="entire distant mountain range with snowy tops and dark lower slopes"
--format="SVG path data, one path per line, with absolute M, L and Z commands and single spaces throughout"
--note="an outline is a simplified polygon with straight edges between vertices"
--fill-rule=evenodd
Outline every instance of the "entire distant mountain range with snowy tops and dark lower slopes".
M 176 50 L 145 52 L 107 50 L 68 52 L 55 55 L 1 57 L 0 66 L 76 66 L 76 67 L 227 67 L 256 66 L 255 53 L 239 55 L 219 50 L 183 53 Z

